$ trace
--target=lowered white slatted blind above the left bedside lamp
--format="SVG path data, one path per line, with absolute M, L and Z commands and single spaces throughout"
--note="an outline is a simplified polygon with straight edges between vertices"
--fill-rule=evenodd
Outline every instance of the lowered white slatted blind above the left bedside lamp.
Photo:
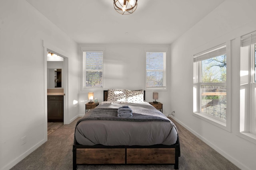
M 83 52 L 83 88 L 102 87 L 103 52 Z

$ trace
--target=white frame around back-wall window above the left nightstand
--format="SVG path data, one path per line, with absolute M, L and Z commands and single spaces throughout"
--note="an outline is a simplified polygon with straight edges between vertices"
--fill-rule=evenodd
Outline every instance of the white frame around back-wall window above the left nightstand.
M 90 87 L 84 87 L 84 52 L 102 52 L 103 55 L 103 68 L 102 68 L 102 86 L 90 86 Z M 87 90 L 102 90 L 104 88 L 104 55 L 105 55 L 105 48 L 104 47 L 81 47 L 81 90 L 87 91 Z

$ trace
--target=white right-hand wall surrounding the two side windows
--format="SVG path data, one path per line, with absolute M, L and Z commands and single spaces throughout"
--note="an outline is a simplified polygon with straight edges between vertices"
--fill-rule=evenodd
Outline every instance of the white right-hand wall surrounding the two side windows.
M 175 119 L 241 169 L 255 169 L 256 145 L 239 132 L 240 41 L 256 30 L 255 0 L 225 0 L 171 45 L 170 106 Z M 231 41 L 231 132 L 193 113 L 193 55 Z M 182 146 L 181 146 L 182 147 Z

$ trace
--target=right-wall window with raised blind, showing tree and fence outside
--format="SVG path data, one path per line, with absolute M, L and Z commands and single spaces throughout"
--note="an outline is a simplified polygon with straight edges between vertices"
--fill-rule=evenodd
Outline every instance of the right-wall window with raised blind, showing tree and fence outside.
M 194 112 L 226 127 L 227 116 L 226 45 L 194 55 Z M 225 129 L 225 128 L 224 128 Z

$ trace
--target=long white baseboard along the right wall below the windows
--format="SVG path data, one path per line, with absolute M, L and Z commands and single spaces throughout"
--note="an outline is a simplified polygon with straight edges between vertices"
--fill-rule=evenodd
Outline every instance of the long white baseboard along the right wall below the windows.
M 204 143 L 206 143 L 207 145 L 209 145 L 212 149 L 216 150 L 216 152 L 218 152 L 219 154 L 221 154 L 222 156 L 224 156 L 227 160 L 229 160 L 230 162 L 232 162 L 234 165 L 236 165 L 238 168 L 242 169 L 242 170 L 250 170 L 248 167 L 246 167 L 244 164 L 242 164 L 241 162 L 239 162 L 238 160 L 236 160 L 235 158 L 233 158 L 232 156 L 230 156 L 229 154 L 227 154 L 226 152 L 224 152 L 222 149 L 220 149 L 219 147 L 217 147 L 216 145 L 212 144 L 210 141 L 208 141 L 207 139 L 205 139 L 204 137 L 202 137 L 201 135 L 199 135 L 198 133 L 196 133 L 195 131 L 193 131 L 192 129 L 190 129 L 188 126 L 186 126 L 184 123 L 182 123 L 181 121 L 179 121 L 178 119 L 176 119 L 175 117 L 171 117 L 172 119 L 174 119 L 175 121 L 177 121 L 180 125 L 182 125 L 183 127 L 185 127 L 188 131 L 190 131 L 193 135 L 195 135 L 196 137 L 198 137 L 199 139 L 201 139 Z

